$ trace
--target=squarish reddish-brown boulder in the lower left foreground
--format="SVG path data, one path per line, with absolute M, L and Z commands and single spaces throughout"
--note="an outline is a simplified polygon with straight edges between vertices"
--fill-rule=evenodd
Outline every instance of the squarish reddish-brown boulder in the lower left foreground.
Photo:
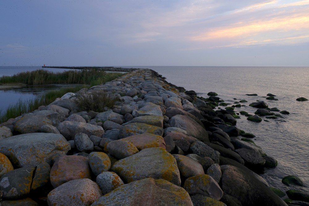
M 89 159 L 70 155 L 58 158 L 50 170 L 50 183 L 54 188 L 73 179 L 91 179 Z

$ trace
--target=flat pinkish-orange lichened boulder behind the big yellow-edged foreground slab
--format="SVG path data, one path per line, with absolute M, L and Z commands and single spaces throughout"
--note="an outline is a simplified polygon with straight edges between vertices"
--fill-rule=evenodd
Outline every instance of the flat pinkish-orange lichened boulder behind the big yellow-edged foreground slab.
M 163 137 L 155 134 L 138 134 L 130 137 L 123 138 L 121 140 L 131 142 L 138 150 L 142 150 L 150 147 L 162 147 L 165 149 L 165 142 Z

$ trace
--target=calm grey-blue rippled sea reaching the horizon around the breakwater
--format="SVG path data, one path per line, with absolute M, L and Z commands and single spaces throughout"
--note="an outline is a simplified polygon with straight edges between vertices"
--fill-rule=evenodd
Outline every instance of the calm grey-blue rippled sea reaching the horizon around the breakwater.
M 115 66 L 118 67 L 118 66 Z M 269 108 L 277 107 L 287 110 L 289 115 L 278 119 L 267 119 L 254 123 L 246 116 L 237 119 L 236 126 L 245 132 L 253 133 L 253 141 L 264 152 L 278 161 L 278 166 L 266 169 L 260 174 L 270 187 L 287 191 L 296 189 L 309 192 L 309 101 L 298 102 L 299 97 L 309 99 L 309 67 L 235 67 L 235 66 L 119 66 L 127 68 L 153 69 L 166 78 L 167 82 L 182 86 L 186 90 L 194 90 L 198 96 L 207 98 L 212 91 L 218 94 L 225 103 L 242 99 L 247 103 L 235 107 L 235 112 L 247 111 L 254 114 L 256 108 L 249 104 L 265 101 Z M 40 69 L 41 67 L 0 67 L 0 76 L 13 75 L 21 71 Z M 63 69 L 65 70 L 65 69 Z M 62 69 L 51 69 L 60 72 Z M 7 107 L 4 99 L 13 99 L 10 95 L 17 93 L 19 98 L 29 98 L 31 92 L 23 94 L 21 90 L 0 90 L 0 110 Z M 246 94 L 258 94 L 248 96 Z M 267 100 L 266 95 L 272 93 L 278 100 Z M 18 99 L 18 98 L 17 98 Z M 17 101 L 17 100 L 16 100 Z M 230 105 L 229 105 L 230 106 Z M 224 107 L 221 107 L 224 108 Z M 217 108 L 216 108 L 217 109 Z M 275 112 L 280 114 L 279 112 Z M 265 117 L 262 117 L 266 120 Z M 286 186 L 281 179 L 287 175 L 296 175 L 304 183 L 304 187 Z M 286 196 L 287 197 L 287 196 Z

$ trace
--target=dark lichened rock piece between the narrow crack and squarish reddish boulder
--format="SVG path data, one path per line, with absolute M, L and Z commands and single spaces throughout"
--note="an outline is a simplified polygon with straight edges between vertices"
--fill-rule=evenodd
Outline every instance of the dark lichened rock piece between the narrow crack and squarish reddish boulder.
M 34 178 L 32 179 L 31 190 L 44 186 L 49 182 L 50 166 L 47 162 L 42 162 L 36 167 Z

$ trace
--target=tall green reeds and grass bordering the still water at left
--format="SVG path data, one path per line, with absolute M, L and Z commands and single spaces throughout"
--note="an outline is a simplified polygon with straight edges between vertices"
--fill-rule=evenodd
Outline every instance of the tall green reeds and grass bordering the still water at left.
M 75 87 L 61 88 L 58 90 L 51 90 L 33 99 L 27 99 L 27 100 L 19 99 L 17 103 L 7 107 L 5 111 L 0 110 L 0 123 L 6 122 L 10 118 L 18 117 L 22 115 L 23 113 L 34 111 L 40 106 L 46 106 L 52 103 L 56 98 L 61 97 L 68 92 L 74 93 L 74 92 L 81 90 L 82 88 L 89 88 L 91 86 L 104 84 L 106 82 L 109 82 L 123 75 L 121 73 L 106 73 L 106 72 L 95 70 L 95 69 L 88 70 L 88 71 L 87 70 L 73 71 L 73 72 L 69 71 L 69 73 L 68 72 L 64 72 L 64 73 L 66 74 L 62 74 L 62 73 L 54 74 L 52 72 L 40 69 L 40 70 L 36 70 L 33 72 L 19 73 L 16 76 L 14 75 L 15 78 L 14 76 L 12 77 L 3 76 L 2 78 L 0 78 L 0 83 L 21 82 L 21 83 L 26 83 L 26 84 L 42 84 L 42 82 L 44 82 L 43 84 L 56 84 L 56 83 L 84 84 L 83 86 L 75 86 Z M 58 77 L 59 80 L 57 80 L 56 77 Z M 68 79 L 64 79 L 65 77 L 67 77 Z M 78 79 L 78 77 L 80 79 Z M 40 80 L 40 78 L 44 80 Z M 32 83 L 28 83 L 28 82 L 32 82 Z M 108 100 L 106 100 L 106 102 L 108 102 Z

